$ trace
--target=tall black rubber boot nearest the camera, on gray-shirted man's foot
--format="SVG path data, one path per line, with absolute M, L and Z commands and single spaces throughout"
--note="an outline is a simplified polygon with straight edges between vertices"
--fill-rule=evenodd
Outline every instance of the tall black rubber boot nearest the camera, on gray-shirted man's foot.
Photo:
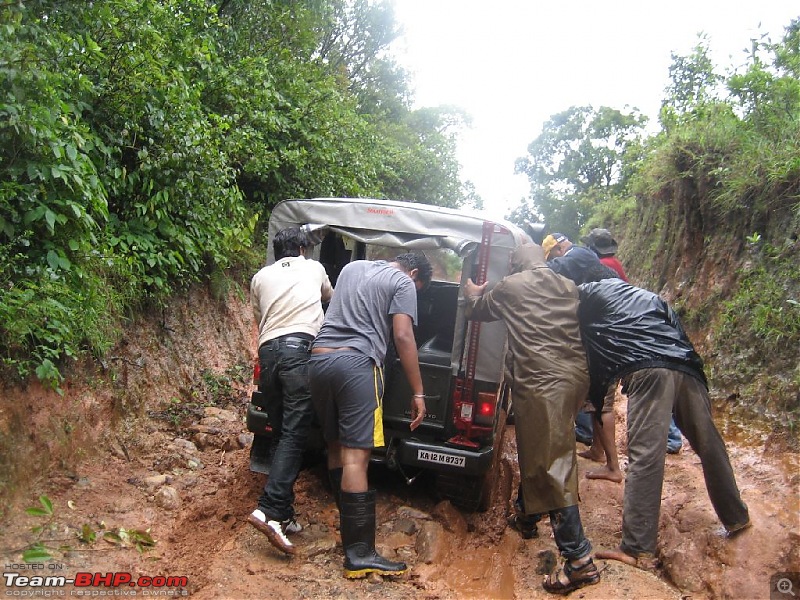
M 341 533 L 344 576 L 348 579 L 378 575 L 402 575 L 404 562 L 383 558 L 375 550 L 375 491 L 341 493 Z

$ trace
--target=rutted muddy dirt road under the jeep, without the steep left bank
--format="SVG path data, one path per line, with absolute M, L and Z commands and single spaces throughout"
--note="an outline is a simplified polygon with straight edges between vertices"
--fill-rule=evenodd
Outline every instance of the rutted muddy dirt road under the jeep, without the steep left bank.
M 321 465 L 304 470 L 297 483 L 296 506 L 304 530 L 294 536 L 299 548 L 295 557 L 275 551 L 247 524 L 264 478 L 248 469 L 243 410 L 244 405 L 207 409 L 181 431 L 154 420 L 135 449 L 112 443 L 74 472 L 42 477 L 36 495 L 2 518 L 4 572 L 11 574 L 0 583 L 3 597 L 44 596 L 48 590 L 50 597 L 551 597 L 541 589 L 543 574 L 557 559 L 549 525 L 540 524 L 539 537 L 530 540 L 505 526 L 518 481 L 513 428 L 506 435 L 499 499 L 486 513 L 463 514 L 437 502 L 424 477 L 407 486 L 396 473 L 373 470 L 379 549 L 405 560 L 411 570 L 398 580 L 348 581 L 341 575 L 337 513 Z M 624 466 L 624 403 L 617 406 L 617 419 Z M 798 456 L 775 444 L 768 432 L 745 433 L 732 423 L 720 427 L 730 440 L 753 528 L 735 539 L 725 537 L 698 459 L 684 445 L 680 454 L 667 456 L 660 566 L 647 572 L 599 561 L 601 583 L 571 597 L 770 598 L 771 579 L 774 585 L 783 573 L 796 578 Z M 624 484 L 584 478 L 596 463 L 579 461 L 587 535 L 596 548 L 613 547 L 619 541 Z M 25 513 L 26 507 L 38 505 L 39 494 L 52 501 L 51 515 Z M 42 529 L 32 531 L 36 527 Z M 37 540 L 53 558 L 31 568 L 21 556 Z M 80 572 L 130 574 L 132 582 L 140 576 L 165 579 L 154 582 L 164 584 L 158 588 L 18 585 L 24 577 Z M 185 580 L 169 579 L 175 577 Z

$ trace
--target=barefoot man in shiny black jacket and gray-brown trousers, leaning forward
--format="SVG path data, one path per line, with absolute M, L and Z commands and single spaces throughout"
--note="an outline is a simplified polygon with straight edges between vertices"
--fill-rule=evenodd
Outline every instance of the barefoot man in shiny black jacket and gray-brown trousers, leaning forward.
M 600 410 L 609 383 L 628 396 L 628 471 L 622 543 L 597 552 L 631 565 L 656 551 L 670 419 L 700 457 L 711 504 L 728 534 L 750 526 L 725 443 L 711 417 L 703 361 L 675 312 L 658 295 L 621 279 L 579 286 L 579 320 L 589 362 L 589 398 Z

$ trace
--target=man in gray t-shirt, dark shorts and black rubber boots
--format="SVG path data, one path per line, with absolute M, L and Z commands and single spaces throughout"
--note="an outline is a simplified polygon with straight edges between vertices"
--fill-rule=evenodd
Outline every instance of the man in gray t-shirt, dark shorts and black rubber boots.
M 367 467 L 383 441 L 383 363 L 391 332 L 413 390 L 411 429 L 425 418 L 414 324 L 417 292 L 430 282 L 425 256 L 391 262 L 355 261 L 342 269 L 336 294 L 314 340 L 309 378 L 314 407 L 328 444 L 328 473 L 339 506 L 344 575 L 400 575 L 407 566 L 375 550 L 375 492 Z

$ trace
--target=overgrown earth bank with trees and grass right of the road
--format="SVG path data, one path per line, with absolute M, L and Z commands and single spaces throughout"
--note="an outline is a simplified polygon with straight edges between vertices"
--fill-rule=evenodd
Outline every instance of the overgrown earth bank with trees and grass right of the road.
M 685 324 L 713 341 L 714 385 L 776 414 L 794 411 L 793 426 L 800 20 L 779 42 L 751 40 L 735 72 L 718 72 L 701 37 L 688 56 L 673 56 L 669 75 L 661 130 L 648 138 L 634 115 L 554 115 L 517 161 L 531 197 L 512 218 L 543 218 L 571 236 L 612 228 L 632 280 L 673 295 Z

